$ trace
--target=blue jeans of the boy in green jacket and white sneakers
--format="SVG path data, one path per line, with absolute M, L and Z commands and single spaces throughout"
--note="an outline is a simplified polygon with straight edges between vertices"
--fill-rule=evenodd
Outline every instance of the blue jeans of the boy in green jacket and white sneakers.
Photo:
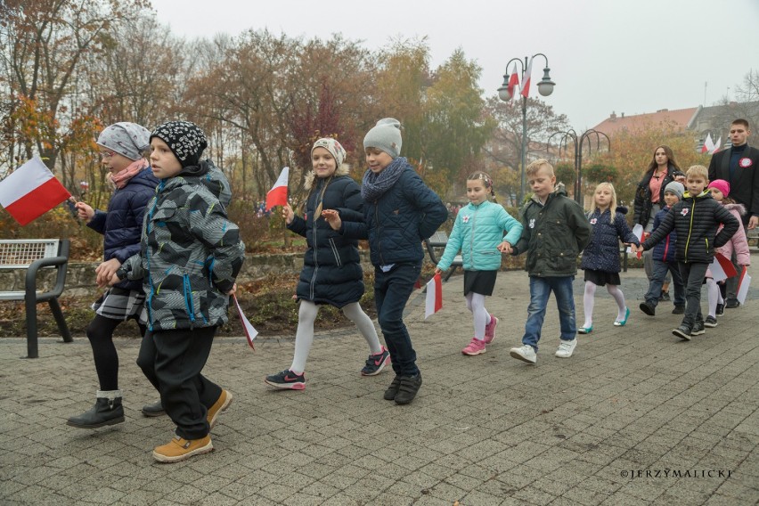
M 572 290 L 574 280 L 575 276 L 549 278 L 530 276 L 530 305 L 527 306 L 527 322 L 522 344 L 530 345 L 537 352 L 537 342 L 540 340 L 545 308 L 548 306 L 551 290 L 556 296 L 556 306 L 559 306 L 560 337 L 564 341 L 575 339 L 577 322 L 575 322 L 575 296 Z

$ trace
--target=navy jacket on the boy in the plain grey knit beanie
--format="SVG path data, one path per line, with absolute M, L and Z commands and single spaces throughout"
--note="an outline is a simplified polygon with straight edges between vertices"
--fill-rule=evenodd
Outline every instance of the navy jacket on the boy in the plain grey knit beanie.
M 406 164 L 387 192 L 377 200 L 364 201 L 363 216 L 365 223 L 344 221 L 340 232 L 350 238 L 368 238 L 371 264 L 378 266 L 421 262 L 421 241 L 445 222 L 448 210 Z

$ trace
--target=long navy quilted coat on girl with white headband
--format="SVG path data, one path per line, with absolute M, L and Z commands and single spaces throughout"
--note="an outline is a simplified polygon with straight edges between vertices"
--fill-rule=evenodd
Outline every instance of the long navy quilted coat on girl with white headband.
M 358 241 L 332 230 L 322 216 L 315 216 L 314 221 L 314 211 L 319 205 L 324 184 L 327 189 L 322 198 L 322 209 L 339 211 L 344 222 L 363 223 L 363 199 L 353 179 L 348 175 L 314 179 L 314 190 L 306 200 L 306 215 L 295 216 L 288 225 L 292 232 L 306 237 L 308 243 L 296 293 L 298 299 L 343 307 L 361 299 L 363 270 Z

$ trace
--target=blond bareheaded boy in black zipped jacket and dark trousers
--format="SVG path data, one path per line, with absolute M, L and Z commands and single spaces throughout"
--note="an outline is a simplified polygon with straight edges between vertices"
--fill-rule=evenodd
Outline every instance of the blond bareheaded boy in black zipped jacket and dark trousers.
M 685 283 L 685 314 L 680 326 L 672 333 L 680 339 L 704 333 L 701 313 L 701 285 L 706 269 L 714 260 L 714 249 L 722 247 L 738 231 L 738 220 L 706 192 L 708 171 L 694 165 L 685 173 L 688 191 L 682 200 L 666 214 L 656 231 L 652 232 L 641 249 L 651 249 L 677 230 L 677 261 L 682 282 Z M 717 232 L 719 224 L 722 230 Z

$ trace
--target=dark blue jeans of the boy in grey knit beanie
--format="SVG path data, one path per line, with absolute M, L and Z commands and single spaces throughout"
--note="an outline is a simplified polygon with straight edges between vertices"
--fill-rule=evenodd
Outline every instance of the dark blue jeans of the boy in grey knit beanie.
M 390 352 L 393 371 L 398 376 L 419 374 L 416 352 L 404 323 L 404 308 L 421 273 L 421 261 L 416 264 L 396 264 L 388 273 L 374 269 L 374 304 L 385 344 Z

